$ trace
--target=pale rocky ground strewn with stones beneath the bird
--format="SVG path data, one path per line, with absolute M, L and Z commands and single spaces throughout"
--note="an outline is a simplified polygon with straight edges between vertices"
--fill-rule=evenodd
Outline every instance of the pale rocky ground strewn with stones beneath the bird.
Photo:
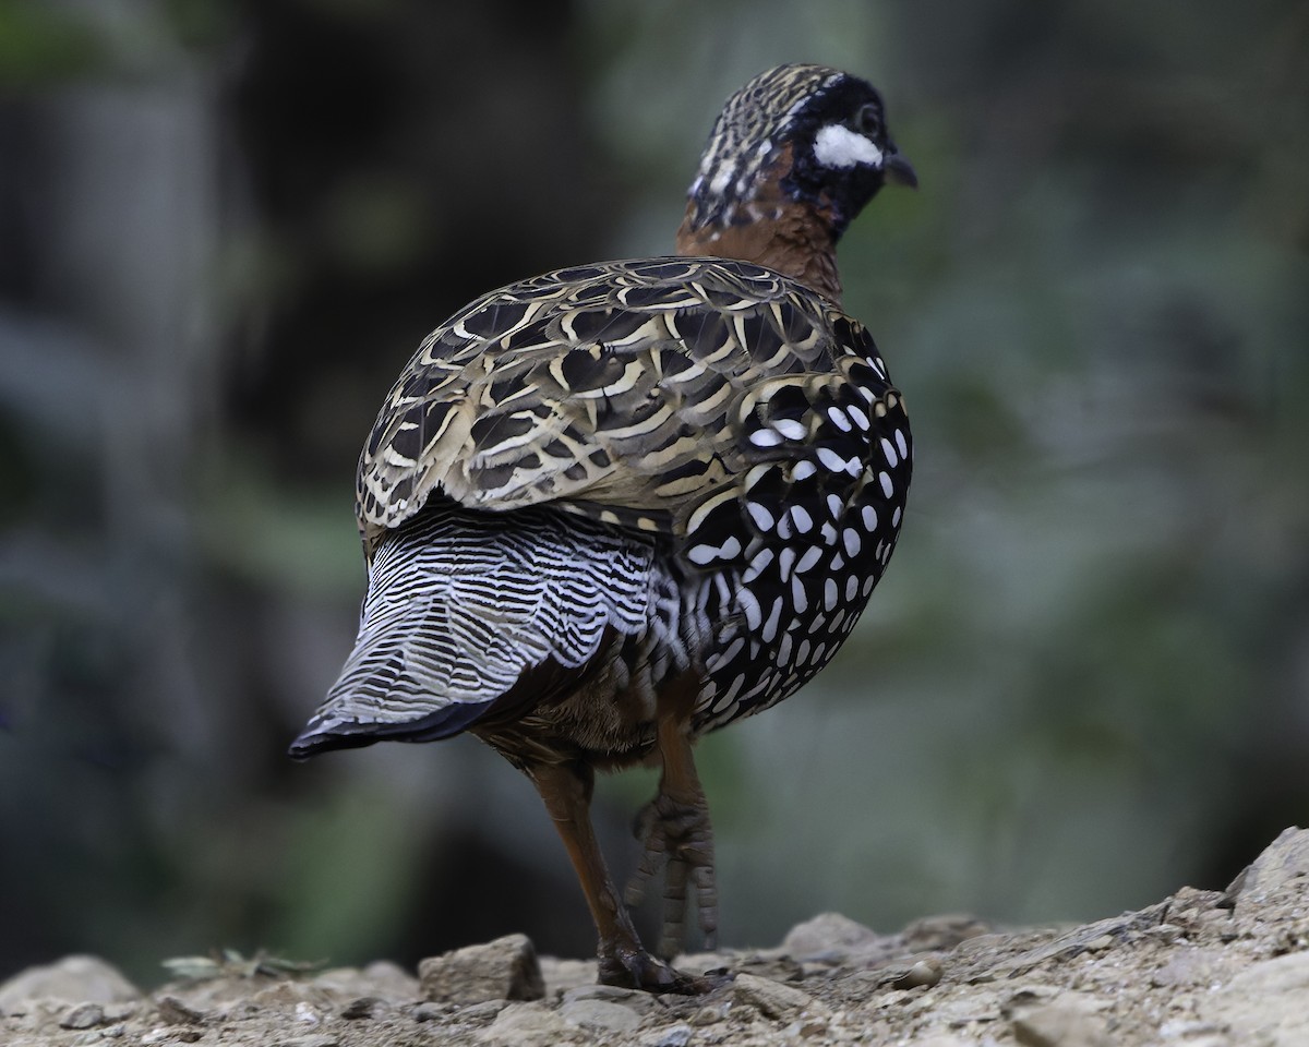
M 520 937 L 424 961 L 297 974 L 194 959 L 143 993 L 69 957 L 0 985 L 0 1044 L 1309 1044 L 1309 831 L 1287 830 L 1227 891 L 1073 928 L 997 932 L 958 917 L 876 934 L 840 916 L 778 949 L 685 957 L 732 978 L 696 997 L 593 984 L 594 966 Z

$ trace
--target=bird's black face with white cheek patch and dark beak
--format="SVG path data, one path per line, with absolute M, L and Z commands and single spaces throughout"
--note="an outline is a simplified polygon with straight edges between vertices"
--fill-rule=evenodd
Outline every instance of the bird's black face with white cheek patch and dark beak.
M 788 139 L 795 162 L 783 188 L 829 211 L 838 237 L 888 181 L 918 185 L 886 133 L 881 96 L 856 77 L 816 96 L 795 115 Z

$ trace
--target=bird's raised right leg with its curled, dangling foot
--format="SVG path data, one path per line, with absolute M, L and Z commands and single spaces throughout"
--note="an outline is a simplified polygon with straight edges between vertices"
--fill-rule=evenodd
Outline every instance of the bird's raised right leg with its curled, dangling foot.
M 641 810 L 636 832 L 645 845 L 640 866 L 627 885 L 626 900 L 640 904 L 645 882 L 664 868 L 664 933 L 658 954 L 672 959 L 682 948 L 687 883 L 695 890 L 704 948 L 713 949 L 719 929 L 719 891 L 713 874 L 713 827 L 709 805 L 695 772 L 686 720 L 664 715 L 658 726 L 664 759 L 658 796 Z

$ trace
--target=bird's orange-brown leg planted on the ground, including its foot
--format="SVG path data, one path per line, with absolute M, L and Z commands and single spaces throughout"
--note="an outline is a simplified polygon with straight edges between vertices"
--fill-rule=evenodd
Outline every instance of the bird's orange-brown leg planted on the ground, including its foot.
M 592 768 L 584 763 L 539 763 L 526 771 L 559 830 L 586 895 L 586 904 L 600 934 L 597 953 L 601 983 L 686 995 L 712 989 L 716 982 L 679 974 L 651 955 L 636 936 L 636 928 L 605 868 L 605 857 L 590 825 L 590 794 L 594 785 Z

